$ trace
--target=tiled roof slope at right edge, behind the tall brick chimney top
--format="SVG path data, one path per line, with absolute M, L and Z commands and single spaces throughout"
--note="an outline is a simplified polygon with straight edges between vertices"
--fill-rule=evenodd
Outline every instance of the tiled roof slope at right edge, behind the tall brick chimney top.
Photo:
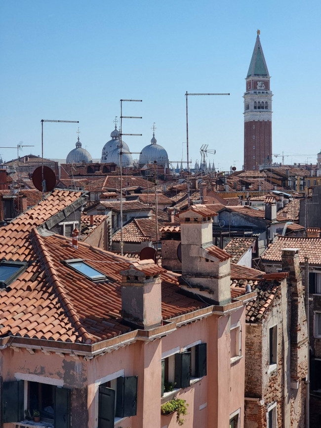
M 310 264 L 321 265 L 321 238 L 292 238 L 278 236 L 262 254 L 262 262 L 281 262 L 282 248 L 299 248 L 299 261 L 304 263 L 304 257 L 309 257 Z

